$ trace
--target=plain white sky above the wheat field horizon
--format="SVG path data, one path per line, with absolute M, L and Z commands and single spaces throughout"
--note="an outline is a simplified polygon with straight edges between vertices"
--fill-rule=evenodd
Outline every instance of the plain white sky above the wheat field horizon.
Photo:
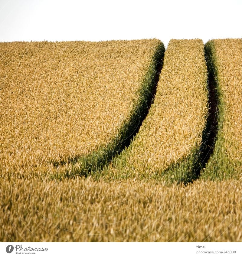
M 0 41 L 242 37 L 242 1 L 0 0 Z

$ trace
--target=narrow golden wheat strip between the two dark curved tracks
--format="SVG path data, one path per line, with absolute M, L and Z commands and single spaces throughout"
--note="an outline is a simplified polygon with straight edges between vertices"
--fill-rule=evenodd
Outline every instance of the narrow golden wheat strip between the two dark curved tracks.
M 107 178 L 165 177 L 187 182 L 199 168 L 208 115 L 207 67 L 200 39 L 171 40 L 154 104 Z

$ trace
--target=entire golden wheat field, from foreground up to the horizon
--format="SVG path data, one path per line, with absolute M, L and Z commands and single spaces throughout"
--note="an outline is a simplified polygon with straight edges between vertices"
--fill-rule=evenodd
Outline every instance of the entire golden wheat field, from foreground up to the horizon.
M 0 241 L 241 242 L 241 50 L 0 43 Z

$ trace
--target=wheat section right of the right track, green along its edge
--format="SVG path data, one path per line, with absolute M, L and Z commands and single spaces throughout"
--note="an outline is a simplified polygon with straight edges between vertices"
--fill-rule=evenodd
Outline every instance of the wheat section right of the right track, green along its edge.
M 206 51 L 218 91 L 218 134 L 214 153 L 202 174 L 239 179 L 242 173 L 242 39 L 208 41 Z

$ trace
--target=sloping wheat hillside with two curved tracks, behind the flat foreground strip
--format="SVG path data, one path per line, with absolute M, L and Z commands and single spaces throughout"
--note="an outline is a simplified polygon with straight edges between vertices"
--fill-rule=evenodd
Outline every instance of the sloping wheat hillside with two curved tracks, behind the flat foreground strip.
M 205 171 L 203 42 L 170 41 L 149 109 L 164 51 L 159 40 L 1 43 L 1 175 L 239 178 L 242 40 L 205 45 L 219 113 Z

